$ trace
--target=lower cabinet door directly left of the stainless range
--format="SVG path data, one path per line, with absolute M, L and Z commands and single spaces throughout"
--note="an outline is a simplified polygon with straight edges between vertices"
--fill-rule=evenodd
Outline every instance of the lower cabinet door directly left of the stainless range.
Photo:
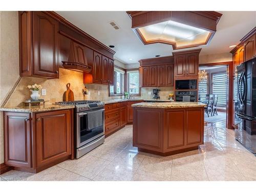
M 71 155 L 70 110 L 36 113 L 35 120 L 37 167 Z

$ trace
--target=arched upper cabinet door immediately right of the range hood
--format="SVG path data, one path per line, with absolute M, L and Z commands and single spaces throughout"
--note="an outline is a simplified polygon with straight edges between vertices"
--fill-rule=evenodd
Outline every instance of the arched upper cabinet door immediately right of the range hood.
M 96 51 L 93 52 L 93 82 L 102 82 L 102 55 Z

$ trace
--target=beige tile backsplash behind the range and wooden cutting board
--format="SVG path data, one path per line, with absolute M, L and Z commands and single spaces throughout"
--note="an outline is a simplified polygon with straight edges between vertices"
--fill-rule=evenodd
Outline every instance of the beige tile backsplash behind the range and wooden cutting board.
M 62 101 L 63 94 L 67 90 L 66 84 L 70 83 L 70 89 L 74 93 L 75 100 L 109 100 L 109 87 L 100 84 L 85 84 L 88 88 L 90 95 L 83 95 L 82 89 L 83 84 L 83 74 L 66 70 L 59 69 L 58 79 L 44 79 L 36 77 L 22 77 L 18 86 L 12 93 L 10 99 L 7 101 L 5 106 L 21 106 L 23 101 L 30 98 L 31 92 L 27 88 L 28 84 L 40 84 L 42 89 L 46 89 L 46 96 L 40 96 L 45 100 L 49 100 L 47 104 Z M 98 95 L 99 92 L 99 95 Z M 113 98 L 113 97 L 111 97 Z M 117 97 L 120 98 L 120 97 Z

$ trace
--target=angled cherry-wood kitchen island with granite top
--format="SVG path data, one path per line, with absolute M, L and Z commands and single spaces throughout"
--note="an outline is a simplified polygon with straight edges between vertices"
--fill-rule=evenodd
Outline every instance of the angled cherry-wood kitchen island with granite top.
M 136 103 L 133 145 L 138 151 L 168 156 L 203 144 L 204 103 Z

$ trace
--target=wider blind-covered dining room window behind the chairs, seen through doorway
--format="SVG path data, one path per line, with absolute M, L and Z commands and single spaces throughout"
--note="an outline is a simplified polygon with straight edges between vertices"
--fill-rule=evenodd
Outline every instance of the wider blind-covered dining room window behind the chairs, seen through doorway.
M 218 94 L 218 105 L 226 106 L 227 104 L 227 74 L 212 74 L 212 94 Z

